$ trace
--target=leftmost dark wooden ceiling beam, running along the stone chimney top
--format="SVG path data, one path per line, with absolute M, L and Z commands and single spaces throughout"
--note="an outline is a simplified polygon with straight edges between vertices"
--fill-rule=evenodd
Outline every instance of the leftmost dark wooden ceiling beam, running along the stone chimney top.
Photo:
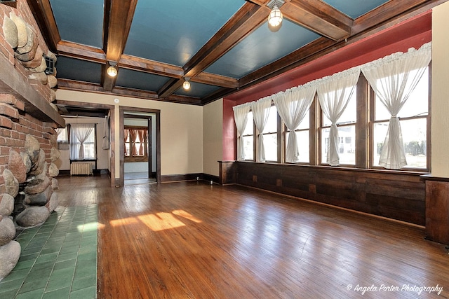
M 41 30 L 43 39 L 46 41 L 48 48 L 56 52 L 58 43 L 61 40 L 58 26 L 56 25 L 53 10 L 51 9 L 50 0 L 27 0 L 28 6 L 34 15 L 34 19 Z

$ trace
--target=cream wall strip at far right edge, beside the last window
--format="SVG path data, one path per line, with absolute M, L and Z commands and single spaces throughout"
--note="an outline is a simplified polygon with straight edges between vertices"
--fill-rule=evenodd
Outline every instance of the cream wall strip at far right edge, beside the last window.
M 449 177 L 449 2 L 432 11 L 431 174 Z

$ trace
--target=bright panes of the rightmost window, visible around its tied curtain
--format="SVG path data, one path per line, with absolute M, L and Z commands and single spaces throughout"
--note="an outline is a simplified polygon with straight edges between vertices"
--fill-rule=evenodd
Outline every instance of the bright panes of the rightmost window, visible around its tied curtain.
M 414 76 L 410 74 L 410 76 Z M 373 121 L 373 167 L 380 167 L 380 151 L 389 126 L 390 113 L 375 99 Z M 427 169 L 427 127 L 429 126 L 429 68 L 398 113 L 407 165 L 404 168 Z

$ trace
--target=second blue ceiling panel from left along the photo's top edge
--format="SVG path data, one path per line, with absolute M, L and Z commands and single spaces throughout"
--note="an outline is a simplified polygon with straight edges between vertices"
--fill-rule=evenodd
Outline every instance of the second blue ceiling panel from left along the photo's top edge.
M 138 1 L 124 53 L 182 67 L 244 3 Z

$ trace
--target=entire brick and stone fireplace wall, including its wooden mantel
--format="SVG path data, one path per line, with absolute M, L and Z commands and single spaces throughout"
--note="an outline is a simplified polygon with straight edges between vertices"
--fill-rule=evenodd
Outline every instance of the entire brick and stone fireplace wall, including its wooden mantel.
M 45 73 L 43 55 L 56 57 L 27 0 L 0 4 L 0 27 L 1 280 L 20 257 L 16 232 L 41 225 L 58 206 L 57 125 L 49 121 L 59 115 L 51 104 L 58 82 Z

